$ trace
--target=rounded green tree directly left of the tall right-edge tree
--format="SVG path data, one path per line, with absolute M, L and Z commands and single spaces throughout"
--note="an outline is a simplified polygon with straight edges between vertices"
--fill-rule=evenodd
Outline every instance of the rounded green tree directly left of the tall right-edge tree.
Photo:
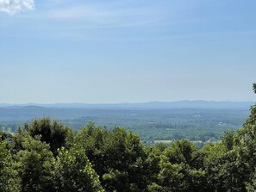
M 203 147 L 203 167 L 208 191 L 247 191 L 251 168 L 247 144 L 235 133 L 226 133 L 218 144 Z M 253 157 L 253 156 L 251 156 Z

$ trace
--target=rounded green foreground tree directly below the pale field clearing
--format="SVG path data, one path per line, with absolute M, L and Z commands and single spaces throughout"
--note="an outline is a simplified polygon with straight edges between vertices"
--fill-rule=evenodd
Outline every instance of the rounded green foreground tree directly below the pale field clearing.
M 186 139 L 165 148 L 159 163 L 158 182 L 151 191 L 205 191 L 206 177 L 197 147 Z

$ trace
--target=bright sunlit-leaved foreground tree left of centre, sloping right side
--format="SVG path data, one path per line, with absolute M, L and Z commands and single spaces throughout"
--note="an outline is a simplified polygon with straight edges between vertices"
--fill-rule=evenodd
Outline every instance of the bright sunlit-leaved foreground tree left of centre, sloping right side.
M 58 192 L 103 192 L 97 173 L 80 146 L 62 147 L 54 165 L 55 189 Z

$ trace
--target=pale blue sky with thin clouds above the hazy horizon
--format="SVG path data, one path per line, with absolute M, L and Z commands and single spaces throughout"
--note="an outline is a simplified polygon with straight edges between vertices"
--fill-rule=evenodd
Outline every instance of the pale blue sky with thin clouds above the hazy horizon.
M 254 101 L 254 0 L 0 0 L 0 102 Z

